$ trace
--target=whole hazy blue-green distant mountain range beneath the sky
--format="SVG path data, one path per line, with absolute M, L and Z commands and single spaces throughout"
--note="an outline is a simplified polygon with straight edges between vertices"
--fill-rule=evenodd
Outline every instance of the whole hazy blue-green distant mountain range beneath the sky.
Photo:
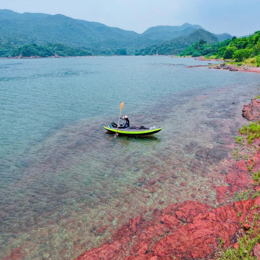
M 170 54 L 182 51 L 197 40 L 216 43 L 232 39 L 229 34 L 212 34 L 200 25 L 184 23 L 181 26 L 155 26 L 142 34 L 106 26 L 99 22 L 72 19 L 64 15 L 41 13 L 16 13 L 0 10 L 0 48 L 24 44 L 43 45 L 59 43 L 75 48 L 84 48 L 92 55 L 111 55 L 118 50 L 124 54 L 142 53 L 144 49 L 171 47 Z M 194 41 L 195 40 L 195 41 Z M 185 41 L 185 44 L 182 44 Z M 167 51 L 167 54 L 169 50 Z M 166 54 L 166 53 L 165 53 Z

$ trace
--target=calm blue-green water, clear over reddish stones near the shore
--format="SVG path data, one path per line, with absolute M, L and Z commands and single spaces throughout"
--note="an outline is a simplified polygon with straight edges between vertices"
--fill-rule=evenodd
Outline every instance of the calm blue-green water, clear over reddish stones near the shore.
M 0 258 L 73 259 L 170 202 L 219 206 L 260 75 L 172 57 L 0 60 Z M 104 124 L 161 126 L 109 135 Z M 214 184 L 214 185 L 213 185 Z M 12 251 L 15 250 L 15 251 Z

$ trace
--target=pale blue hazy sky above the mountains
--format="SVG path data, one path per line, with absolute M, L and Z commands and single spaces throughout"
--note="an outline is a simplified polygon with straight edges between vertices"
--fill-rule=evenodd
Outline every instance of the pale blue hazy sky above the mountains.
M 0 9 L 62 14 L 137 33 L 185 22 L 238 37 L 260 30 L 260 0 L 0 0 Z

